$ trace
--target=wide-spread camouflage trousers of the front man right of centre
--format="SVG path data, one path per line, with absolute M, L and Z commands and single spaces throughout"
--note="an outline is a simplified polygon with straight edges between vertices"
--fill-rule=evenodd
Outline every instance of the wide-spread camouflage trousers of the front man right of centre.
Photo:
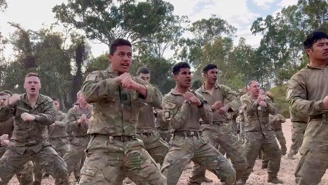
M 233 166 L 204 138 L 175 135 L 170 142 L 170 151 L 161 167 L 161 172 L 168 179 L 168 185 L 178 183 L 183 169 L 191 161 L 204 166 L 226 184 L 233 184 L 236 181 L 236 171 Z M 194 177 L 196 178 L 196 176 Z M 197 178 L 194 179 L 194 183 L 201 184 L 204 174 L 199 174 Z

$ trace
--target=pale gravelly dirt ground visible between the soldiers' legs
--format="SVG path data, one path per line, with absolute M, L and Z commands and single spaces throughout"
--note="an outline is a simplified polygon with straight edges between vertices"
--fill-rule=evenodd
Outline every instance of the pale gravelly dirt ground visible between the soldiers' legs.
M 285 133 L 288 150 L 291 145 L 291 125 L 292 125 L 292 123 L 290 122 L 289 119 L 283 125 L 283 131 Z M 295 184 L 294 169 L 296 167 L 298 158 L 299 158 L 299 155 L 296 155 L 294 160 L 288 160 L 288 159 L 286 159 L 286 156 L 283 156 L 278 176 L 285 182 L 285 184 L 288 184 L 288 185 Z M 180 177 L 178 185 L 186 185 L 189 174 L 190 174 L 190 169 L 185 170 L 183 172 L 182 176 Z M 203 185 L 221 184 L 220 180 L 218 180 L 217 177 L 214 174 L 212 174 L 211 172 L 207 171 L 206 176 L 208 178 L 213 179 L 214 182 L 202 183 Z M 253 184 L 253 185 L 255 185 L 255 184 L 256 185 L 269 185 L 270 184 L 271 185 L 272 183 L 266 182 L 266 178 L 267 178 L 266 169 L 265 170 L 261 169 L 261 161 L 257 160 L 255 163 L 255 166 L 254 166 L 254 172 L 252 172 L 252 174 L 250 175 L 249 180 L 247 181 L 247 184 Z M 73 182 L 73 176 L 71 176 L 70 179 L 72 180 L 71 184 L 75 184 L 75 182 Z M 19 183 L 18 183 L 16 177 L 14 177 L 9 183 L 9 185 L 17 185 L 17 184 L 19 184 Z M 54 184 L 54 181 L 50 177 L 47 179 L 43 179 L 41 184 L 42 185 L 50 185 L 50 184 L 52 185 L 52 184 Z M 131 185 L 133 185 L 133 184 L 134 183 L 132 183 Z M 321 183 L 320 183 L 320 185 L 325 185 L 325 184 L 328 184 L 328 175 L 327 174 L 325 174 L 322 177 Z

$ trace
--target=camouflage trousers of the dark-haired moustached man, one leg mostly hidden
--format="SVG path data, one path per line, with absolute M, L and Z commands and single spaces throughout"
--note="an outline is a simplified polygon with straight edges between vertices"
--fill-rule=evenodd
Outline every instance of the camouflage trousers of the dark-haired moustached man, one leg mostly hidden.
M 223 123 L 230 124 L 230 122 Z M 227 153 L 227 157 L 231 159 L 233 167 L 236 171 L 236 179 L 238 180 L 246 169 L 246 156 L 244 147 L 237 141 L 237 137 L 232 131 L 227 129 L 229 125 L 212 124 L 210 129 L 203 130 L 205 140 L 215 149 L 220 146 Z M 224 132 L 224 130 L 226 130 Z M 205 177 L 206 168 L 204 166 L 194 165 L 190 182 L 196 182 L 199 178 Z

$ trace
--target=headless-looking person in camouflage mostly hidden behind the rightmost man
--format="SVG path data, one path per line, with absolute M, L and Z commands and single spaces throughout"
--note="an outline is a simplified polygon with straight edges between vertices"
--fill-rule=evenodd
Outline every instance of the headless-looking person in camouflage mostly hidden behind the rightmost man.
M 290 108 L 289 108 L 290 110 Z M 291 110 L 289 111 L 292 121 L 292 145 L 289 149 L 287 159 L 294 159 L 294 155 L 297 154 L 298 149 L 301 147 L 305 129 L 307 126 L 308 117 L 298 117 Z

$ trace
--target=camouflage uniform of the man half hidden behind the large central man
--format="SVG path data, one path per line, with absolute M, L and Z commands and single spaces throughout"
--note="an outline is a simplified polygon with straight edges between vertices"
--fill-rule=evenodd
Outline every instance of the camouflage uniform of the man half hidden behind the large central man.
M 140 109 L 137 123 L 137 138 L 142 140 L 146 151 L 160 165 L 169 151 L 169 145 L 155 132 L 153 108 L 145 105 Z

